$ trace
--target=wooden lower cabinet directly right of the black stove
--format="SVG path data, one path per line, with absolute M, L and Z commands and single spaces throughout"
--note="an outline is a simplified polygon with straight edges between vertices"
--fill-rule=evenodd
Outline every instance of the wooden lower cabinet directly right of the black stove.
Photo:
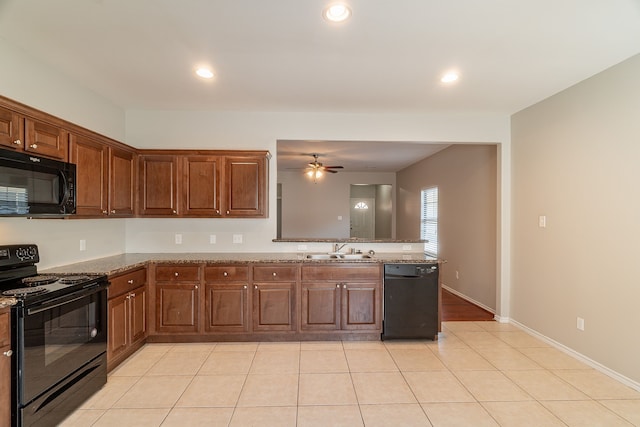
M 133 354 L 147 337 L 146 270 L 138 269 L 110 278 L 107 365 L 113 369 Z

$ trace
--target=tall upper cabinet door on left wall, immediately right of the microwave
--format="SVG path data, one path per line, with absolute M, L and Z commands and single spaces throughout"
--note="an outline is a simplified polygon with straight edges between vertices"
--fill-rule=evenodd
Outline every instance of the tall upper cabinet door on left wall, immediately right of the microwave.
M 71 135 L 69 160 L 76 165 L 76 213 L 107 215 L 108 148 L 90 138 Z

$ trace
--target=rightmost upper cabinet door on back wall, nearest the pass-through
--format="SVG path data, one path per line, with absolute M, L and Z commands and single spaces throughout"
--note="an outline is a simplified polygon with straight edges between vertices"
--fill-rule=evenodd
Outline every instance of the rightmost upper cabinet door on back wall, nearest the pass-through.
M 267 217 L 267 159 L 257 156 L 225 158 L 225 214 Z

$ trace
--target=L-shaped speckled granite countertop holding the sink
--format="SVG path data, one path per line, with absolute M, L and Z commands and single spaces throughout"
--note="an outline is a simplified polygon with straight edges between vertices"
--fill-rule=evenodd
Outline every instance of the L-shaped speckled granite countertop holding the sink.
M 419 252 L 376 253 L 372 258 L 359 260 L 310 260 L 305 253 L 133 253 L 114 255 L 62 265 L 39 271 L 43 274 L 106 274 L 114 275 L 136 267 L 144 267 L 149 262 L 172 264 L 229 264 L 229 263 L 436 263 L 437 259 Z

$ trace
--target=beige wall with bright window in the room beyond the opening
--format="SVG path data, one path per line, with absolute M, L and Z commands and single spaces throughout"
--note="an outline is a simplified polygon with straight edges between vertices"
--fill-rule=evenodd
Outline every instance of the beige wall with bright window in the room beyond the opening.
M 420 229 L 420 191 L 437 186 L 438 258 L 447 260 L 442 283 L 492 310 L 496 309 L 496 152 L 495 145 L 452 145 L 397 176 L 398 238 Z

